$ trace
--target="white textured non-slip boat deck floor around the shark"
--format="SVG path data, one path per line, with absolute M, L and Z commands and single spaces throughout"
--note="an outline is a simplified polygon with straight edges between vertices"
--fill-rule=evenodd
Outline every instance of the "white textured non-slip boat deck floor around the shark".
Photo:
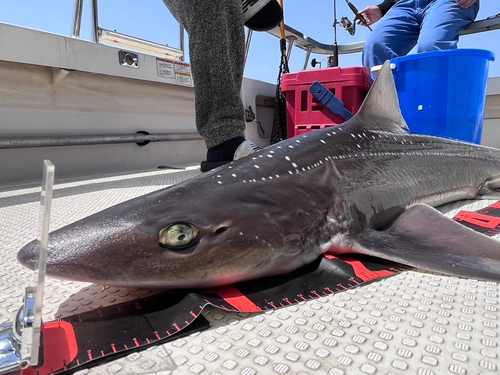
M 57 184 L 51 230 L 197 174 L 197 169 L 166 170 Z M 24 287 L 33 283 L 16 253 L 37 235 L 39 191 L 0 192 L 0 323 L 13 319 Z M 444 212 L 453 216 L 491 203 L 461 202 Z M 44 319 L 153 293 L 49 278 Z M 207 331 L 76 373 L 498 374 L 499 294 L 494 282 L 407 271 L 266 313 L 209 308 Z

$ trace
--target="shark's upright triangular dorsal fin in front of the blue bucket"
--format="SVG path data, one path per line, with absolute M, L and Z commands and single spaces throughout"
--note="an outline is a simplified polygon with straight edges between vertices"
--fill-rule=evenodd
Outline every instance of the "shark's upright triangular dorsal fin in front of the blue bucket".
M 399 108 L 398 93 L 389 60 L 382 66 L 375 83 L 354 118 L 357 124 L 369 129 L 398 133 L 408 131 L 408 125 Z

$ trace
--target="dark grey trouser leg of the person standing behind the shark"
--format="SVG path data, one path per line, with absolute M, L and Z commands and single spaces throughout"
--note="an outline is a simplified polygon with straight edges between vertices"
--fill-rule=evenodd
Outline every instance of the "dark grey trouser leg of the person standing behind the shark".
M 245 30 L 241 0 L 163 0 L 189 34 L 196 127 L 212 148 L 243 137 L 240 91 Z

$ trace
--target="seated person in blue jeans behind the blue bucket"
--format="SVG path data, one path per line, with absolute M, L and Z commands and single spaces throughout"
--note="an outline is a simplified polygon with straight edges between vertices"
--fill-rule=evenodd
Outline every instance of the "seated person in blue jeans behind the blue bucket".
M 363 65 L 370 71 L 415 46 L 417 53 L 456 49 L 478 12 L 479 0 L 384 0 L 369 6 L 359 13 L 368 25 L 377 25 L 366 40 Z

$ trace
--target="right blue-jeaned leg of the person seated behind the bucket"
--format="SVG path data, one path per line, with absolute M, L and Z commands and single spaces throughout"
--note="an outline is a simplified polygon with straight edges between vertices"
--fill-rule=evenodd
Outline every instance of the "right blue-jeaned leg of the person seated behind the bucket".
M 435 0 L 424 12 L 417 52 L 456 49 L 460 33 L 476 19 L 479 2 L 460 8 L 455 0 Z

